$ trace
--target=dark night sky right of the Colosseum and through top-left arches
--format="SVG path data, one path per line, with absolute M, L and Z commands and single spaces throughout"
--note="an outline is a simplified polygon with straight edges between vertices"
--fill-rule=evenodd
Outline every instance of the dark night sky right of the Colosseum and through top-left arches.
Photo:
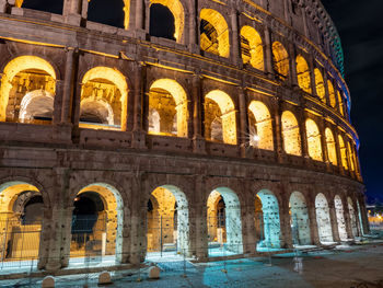
M 109 3 L 111 0 L 101 1 Z M 379 197 L 383 201 L 380 182 L 383 178 L 383 0 L 322 2 L 343 42 L 346 81 L 352 100 L 351 119 L 360 136 L 360 161 L 368 196 L 370 200 Z M 25 3 L 56 13 L 60 13 L 62 7 L 62 0 L 25 0 Z

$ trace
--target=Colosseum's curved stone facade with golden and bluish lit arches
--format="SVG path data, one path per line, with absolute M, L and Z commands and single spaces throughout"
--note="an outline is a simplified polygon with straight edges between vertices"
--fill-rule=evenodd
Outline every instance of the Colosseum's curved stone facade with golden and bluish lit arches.
M 369 232 L 320 0 L 55 2 L 0 0 L 1 267 L 245 257 Z

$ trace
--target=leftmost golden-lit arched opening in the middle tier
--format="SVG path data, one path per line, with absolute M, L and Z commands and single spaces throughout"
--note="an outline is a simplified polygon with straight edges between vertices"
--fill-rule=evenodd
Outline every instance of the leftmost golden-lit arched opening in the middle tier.
M 55 93 L 56 73 L 49 62 L 36 56 L 14 58 L 1 78 L 0 122 L 51 124 Z M 21 115 L 25 111 L 27 118 Z

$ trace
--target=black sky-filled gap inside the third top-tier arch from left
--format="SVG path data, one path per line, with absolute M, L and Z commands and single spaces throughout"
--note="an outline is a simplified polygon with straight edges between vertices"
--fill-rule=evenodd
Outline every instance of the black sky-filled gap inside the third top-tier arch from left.
M 174 21 L 174 15 L 167 7 L 162 4 L 152 4 L 150 7 L 150 36 L 175 41 Z

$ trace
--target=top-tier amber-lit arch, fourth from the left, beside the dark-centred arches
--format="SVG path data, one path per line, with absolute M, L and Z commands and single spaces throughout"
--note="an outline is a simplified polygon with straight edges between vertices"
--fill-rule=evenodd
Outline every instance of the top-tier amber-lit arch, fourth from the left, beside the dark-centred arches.
M 221 57 L 230 56 L 229 27 L 224 18 L 212 9 L 200 12 L 200 47 Z

